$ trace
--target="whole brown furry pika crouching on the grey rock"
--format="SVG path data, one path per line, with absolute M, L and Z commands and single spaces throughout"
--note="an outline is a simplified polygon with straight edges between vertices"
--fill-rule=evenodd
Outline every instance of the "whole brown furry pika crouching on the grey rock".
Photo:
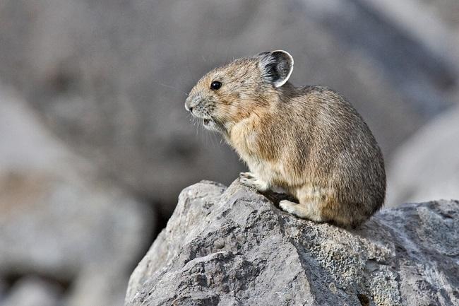
M 293 86 L 292 71 L 283 50 L 236 59 L 205 74 L 185 108 L 248 165 L 243 184 L 281 187 L 299 203 L 280 208 L 299 218 L 355 227 L 383 205 L 381 149 L 350 102 L 326 87 Z

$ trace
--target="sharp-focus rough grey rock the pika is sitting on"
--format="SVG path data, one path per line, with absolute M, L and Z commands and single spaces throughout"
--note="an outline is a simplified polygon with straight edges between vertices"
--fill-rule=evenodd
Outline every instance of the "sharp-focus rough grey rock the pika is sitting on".
M 459 201 L 383 210 L 345 230 L 270 199 L 238 181 L 184 189 L 125 305 L 458 305 Z

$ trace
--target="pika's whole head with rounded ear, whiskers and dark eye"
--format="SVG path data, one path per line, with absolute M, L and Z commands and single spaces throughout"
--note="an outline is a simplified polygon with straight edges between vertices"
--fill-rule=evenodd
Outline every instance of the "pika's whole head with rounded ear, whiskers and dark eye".
M 236 59 L 205 74 L 191 89 L 185 108 L 202 119 L 206 129 L 227 133 L 237 122 L 270 107 L 292 70 L 293 58 L 282 50 Z

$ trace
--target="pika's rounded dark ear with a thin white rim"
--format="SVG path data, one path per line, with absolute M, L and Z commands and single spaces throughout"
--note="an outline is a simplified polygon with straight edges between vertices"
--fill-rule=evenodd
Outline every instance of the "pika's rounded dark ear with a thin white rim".
M 293 57 L 284 50 L 261 52 L 257 54 L 263 78 L 273 83 L 275 88 L 284 85 L 293 71 Z

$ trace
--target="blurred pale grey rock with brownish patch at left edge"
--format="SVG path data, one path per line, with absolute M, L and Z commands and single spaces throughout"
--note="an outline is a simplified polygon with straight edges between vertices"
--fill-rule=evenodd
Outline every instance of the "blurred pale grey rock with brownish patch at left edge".
M 122 305 L 153 211 L 69 151 L 5 86 L 0 139 L 0 305 Z M 54 283 L 59 294 L 47 289 Z

